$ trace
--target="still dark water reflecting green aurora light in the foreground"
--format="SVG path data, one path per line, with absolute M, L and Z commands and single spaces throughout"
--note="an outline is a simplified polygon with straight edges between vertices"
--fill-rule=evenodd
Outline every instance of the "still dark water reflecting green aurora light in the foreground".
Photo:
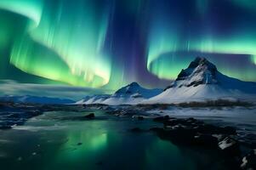
M 50 111 L 24 126 L 0 131 L 0 167 L 12 169 L 215 169 L 217 155 L 180 147 L 133 127 L 152 121 L 94 111 L 96 119 L 74 120 L 87 111 Z M 214 168 L 215 167 L 215 168 Z M 221 168 L 221 167 L 219 167 Z

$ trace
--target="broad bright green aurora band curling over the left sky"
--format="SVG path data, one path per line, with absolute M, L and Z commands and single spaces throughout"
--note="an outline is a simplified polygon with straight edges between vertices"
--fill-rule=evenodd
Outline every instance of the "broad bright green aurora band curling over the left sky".
M 53 7 L 44 4 L 49 7 L 40 1 L 0 2 L 1 8 L 28 20 L 27 31 L 14 40 L 10 63 L 26 73 L 76 86 L 100 87 L 109 82 L 110 60 L 101 51 L 107 14 L 95 13 L 99 7 L 93 1 L 77 1 L 74 10 L 69 1 Z

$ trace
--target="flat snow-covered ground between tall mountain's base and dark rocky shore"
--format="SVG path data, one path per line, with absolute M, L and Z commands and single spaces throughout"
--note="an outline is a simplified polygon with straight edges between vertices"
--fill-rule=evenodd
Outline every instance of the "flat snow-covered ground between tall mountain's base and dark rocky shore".
M 162 115 L 174 117 L 195 117 L 206 122 L 219 125 L 230 125 L 238 128 L 238 132 L 256 135 L 256 107 L 169 107 L 168 110 L 147 111 L 148 115 Z

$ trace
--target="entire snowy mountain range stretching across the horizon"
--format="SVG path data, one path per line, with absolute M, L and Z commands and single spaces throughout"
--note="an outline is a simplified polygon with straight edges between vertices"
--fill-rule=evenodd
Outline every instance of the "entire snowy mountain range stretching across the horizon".
M 132 82 L 118 89 L 114 94 L 85 96 L 77 102 L 37 96 L 3 96 L 0 101 L 34 104 L 75 105 L 152 105 L 206 102 L 213 100 L 249 101 L 256 103 L 256 82 L 242 82 L 227 77 L 218 71 L 208 59 L 197 57 L 179 72 L 178 77 L 167 88 L 147 89 Z

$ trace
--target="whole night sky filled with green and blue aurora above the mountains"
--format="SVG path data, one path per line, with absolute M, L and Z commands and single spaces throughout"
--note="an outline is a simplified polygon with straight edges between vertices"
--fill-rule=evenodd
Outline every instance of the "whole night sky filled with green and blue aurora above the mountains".
M 161 87 L 197 55 L 256 82 L 253 0 L 0 0 L 0 79 Z

